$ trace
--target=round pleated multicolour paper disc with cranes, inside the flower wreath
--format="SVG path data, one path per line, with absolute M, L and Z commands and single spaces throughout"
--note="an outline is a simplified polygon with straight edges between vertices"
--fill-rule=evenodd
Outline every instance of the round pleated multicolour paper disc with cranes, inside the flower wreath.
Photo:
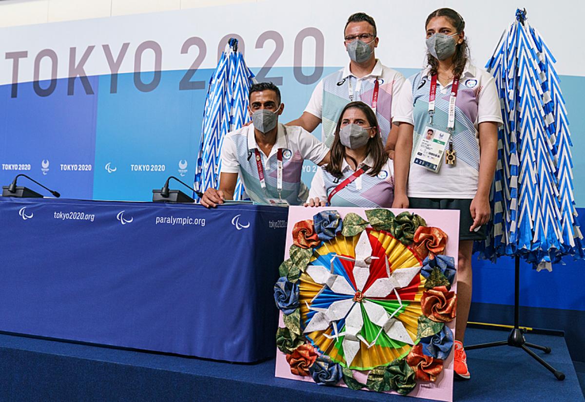
M 350 369 L 368 370 L 404 357 L 418 342 L 425 290 L 421 266 L 417 254 L 387 231 L 368 228 L 324 242 L 299 279 L 305 335 L 322 354 Z M 318 330 L 307 332 L 312 327 Z

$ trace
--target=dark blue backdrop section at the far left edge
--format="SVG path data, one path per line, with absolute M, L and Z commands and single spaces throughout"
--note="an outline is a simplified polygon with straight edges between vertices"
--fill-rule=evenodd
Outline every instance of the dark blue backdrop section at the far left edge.
M 48 90 L 50 81 L 18 84 L 17 98 L 11 85 L 0 86 L 0 182 L 24 173 L 64 197 L 92 199 L 98 79 L 89 82 L 93 95 L 79 80 L 73 95 L 67 79 L 54 80 L 49 96 L 37 95 L 34 86 Z

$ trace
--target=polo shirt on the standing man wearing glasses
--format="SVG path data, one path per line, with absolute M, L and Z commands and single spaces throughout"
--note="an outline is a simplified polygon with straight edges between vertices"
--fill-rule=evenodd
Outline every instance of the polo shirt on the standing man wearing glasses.
M 321 119 L 323 127 L 321 140 L 325 145 L 331 147 L 333 144 L 333 134 L 339 114 L 347 103 L 361 100 L 372 106 L 376 80 L 379 85 L 376 117 L 380 126 L 382 143 L 386 144 L 391 129 L 390 122 L 395 114 L 393 99 L 398 96 L 405 80 L 400 72 L 376 60 L 371 73 L 362 78 L 355 77 L 349 70 L 348 64 L 345 68 L 329 74 L 315 86 L 305 112 Z

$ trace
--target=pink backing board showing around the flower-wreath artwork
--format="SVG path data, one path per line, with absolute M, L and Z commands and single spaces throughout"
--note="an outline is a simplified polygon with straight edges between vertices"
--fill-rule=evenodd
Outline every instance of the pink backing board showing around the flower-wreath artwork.
M 312 217 L 321 211 L 336 210 L 342 217 L 347 213 L 353 212 L 366 219 L 365 211 L 370 208 L 351 208 L 351 207 L 302 207 L 293 206 L 288 210 L 288 226 L 287 226 L 287 244 L 284 252 L 284 259 L 287 259 L 288 249 L 292 244 L 292 227 L 300 220 L 312 219 Z M 455 258 L 455 266 L 457 266 L 457 256 L 459 251 L 459 211 L 457 210 L 436 210 L 436 209 L 390 209 L 394 214 L 399 214 L 402 211 L 416 213 L 422 216 L 428 226 L 435 226 L 441 228 L 449 237 L 445 254 Z M 455 277 L 457 279 L 457 277 Z M 451 290 L 457 291 L 457 283 L 453 283 Z M 284 327 L 282 313 L 278 325 Z M 448 324 L 449 328 L 455 332 L 455 320 Z M 438 401 L 452 402 L 453 400 L 453 353 L 444 362 L 444 369 L 439 375 L 435 383 L 420 383 L 415 389 L 408 394 L 408 396 L 417 398 L 428 398 Z M 276 368 L 274 375 L 281 378 L 292 380 L 300 380 L 313 382 L 311 377 L 295 376 L 290 372 L 290 366 L 285 359 L 283 352 L 277 349 L 276 351 Z M 356 380 L 365 383 L 366 376 L 363 378 L 356 376 Z M 345 387 L 345 384 L 340 386 Z M 395 393 L 391 391 L 391 393 Z

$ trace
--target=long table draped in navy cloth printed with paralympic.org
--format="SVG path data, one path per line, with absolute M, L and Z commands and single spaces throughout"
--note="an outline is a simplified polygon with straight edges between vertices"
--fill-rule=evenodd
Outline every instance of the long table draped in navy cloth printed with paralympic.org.
M 0 331 L 267 358 L 286 220 L 270 206 L 0 197 Z

